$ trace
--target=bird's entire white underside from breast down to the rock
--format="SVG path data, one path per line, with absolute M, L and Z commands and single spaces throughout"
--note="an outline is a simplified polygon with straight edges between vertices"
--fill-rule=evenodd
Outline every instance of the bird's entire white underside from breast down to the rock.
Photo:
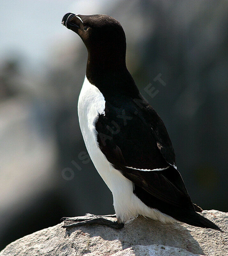
M 78 115 L 81 132 L 89 156 L 98 173 L 113 195 L 113 204 L 118 220 L 127 221 L 139 214 L 163 222 L 173 219 L 156 209 L 149 208 L 133 194 L 133 183 L 116 170 L 100 150 L 97 142 L 95 121 L 98 114 L 104 113 L 105 100 L 102 93 L 90 84 L 85 77 L 78 102 Z

